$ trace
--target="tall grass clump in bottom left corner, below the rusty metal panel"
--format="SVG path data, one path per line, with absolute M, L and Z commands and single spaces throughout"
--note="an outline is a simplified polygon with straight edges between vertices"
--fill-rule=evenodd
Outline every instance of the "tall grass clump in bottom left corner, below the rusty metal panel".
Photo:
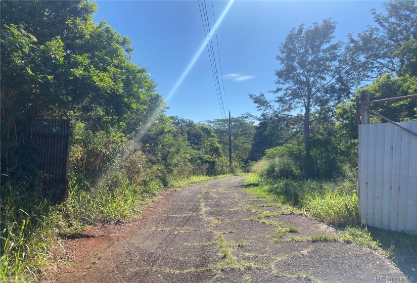
M 62 206 L 51 206 L 30 176 L 2 183 L 0 279 L 31 281 L 51 258 L 49 247 L 63 225 Z

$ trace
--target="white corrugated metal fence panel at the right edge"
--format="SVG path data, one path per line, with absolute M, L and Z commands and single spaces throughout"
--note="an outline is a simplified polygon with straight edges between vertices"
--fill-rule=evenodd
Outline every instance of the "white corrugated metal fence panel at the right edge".
M 417 121 L 398 124 L 417 133 Z M 363 224 L 417 233 L 417 136 L 359 125 L 359 213 Z

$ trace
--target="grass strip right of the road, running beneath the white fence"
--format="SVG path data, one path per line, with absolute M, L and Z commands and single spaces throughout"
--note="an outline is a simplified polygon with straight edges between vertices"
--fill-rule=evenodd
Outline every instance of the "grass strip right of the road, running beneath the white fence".
M 265 162 L 262 161 L 263 164 Z M 263 199 L 273 200 L 277 205 L 286 206 L 285 211 L 288 213 L 306 213 L 339 231 L 338 237 L 311 235 L 300 238 L 295 235 L 290 237 L 290 242 L 340 241 L 363 245 L 390 258 L 406 275 L 415 278 L 417 235 L 361 225 L 355 174 L 337 180 L 299 180 L 267 173 L 270 167 L 277 166 L 277 163 L 272 162 L 259 172 L 251 173 L 246 179 L 248 191 Z M 293 209 L 288 209 L 288 206 Z M 285 229 L 290 231 L 290 227 Z M 286 233 L 287 230 L 281 232 Z M 280 240 L 280 236 L 276 235 L 276 241 Z

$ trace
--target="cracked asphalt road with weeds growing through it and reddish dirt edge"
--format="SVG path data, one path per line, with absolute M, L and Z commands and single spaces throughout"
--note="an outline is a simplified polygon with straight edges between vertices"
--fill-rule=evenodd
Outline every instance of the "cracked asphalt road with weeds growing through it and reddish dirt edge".
M 280 215 L 283 208 L 249 194 L 243 179 L 167 192 L 137 220 L 90 227 L 83 231 L 89 238 L 62 243 L 65 251 L 57 258 L 69 266 L 51 269 L 41 281 L 371 282 L 404 276 L 363 247 L 306 242 L 337 231 L 309 217 Z M 298 232 L 279 238 L 279 229 L 289 226 Z

